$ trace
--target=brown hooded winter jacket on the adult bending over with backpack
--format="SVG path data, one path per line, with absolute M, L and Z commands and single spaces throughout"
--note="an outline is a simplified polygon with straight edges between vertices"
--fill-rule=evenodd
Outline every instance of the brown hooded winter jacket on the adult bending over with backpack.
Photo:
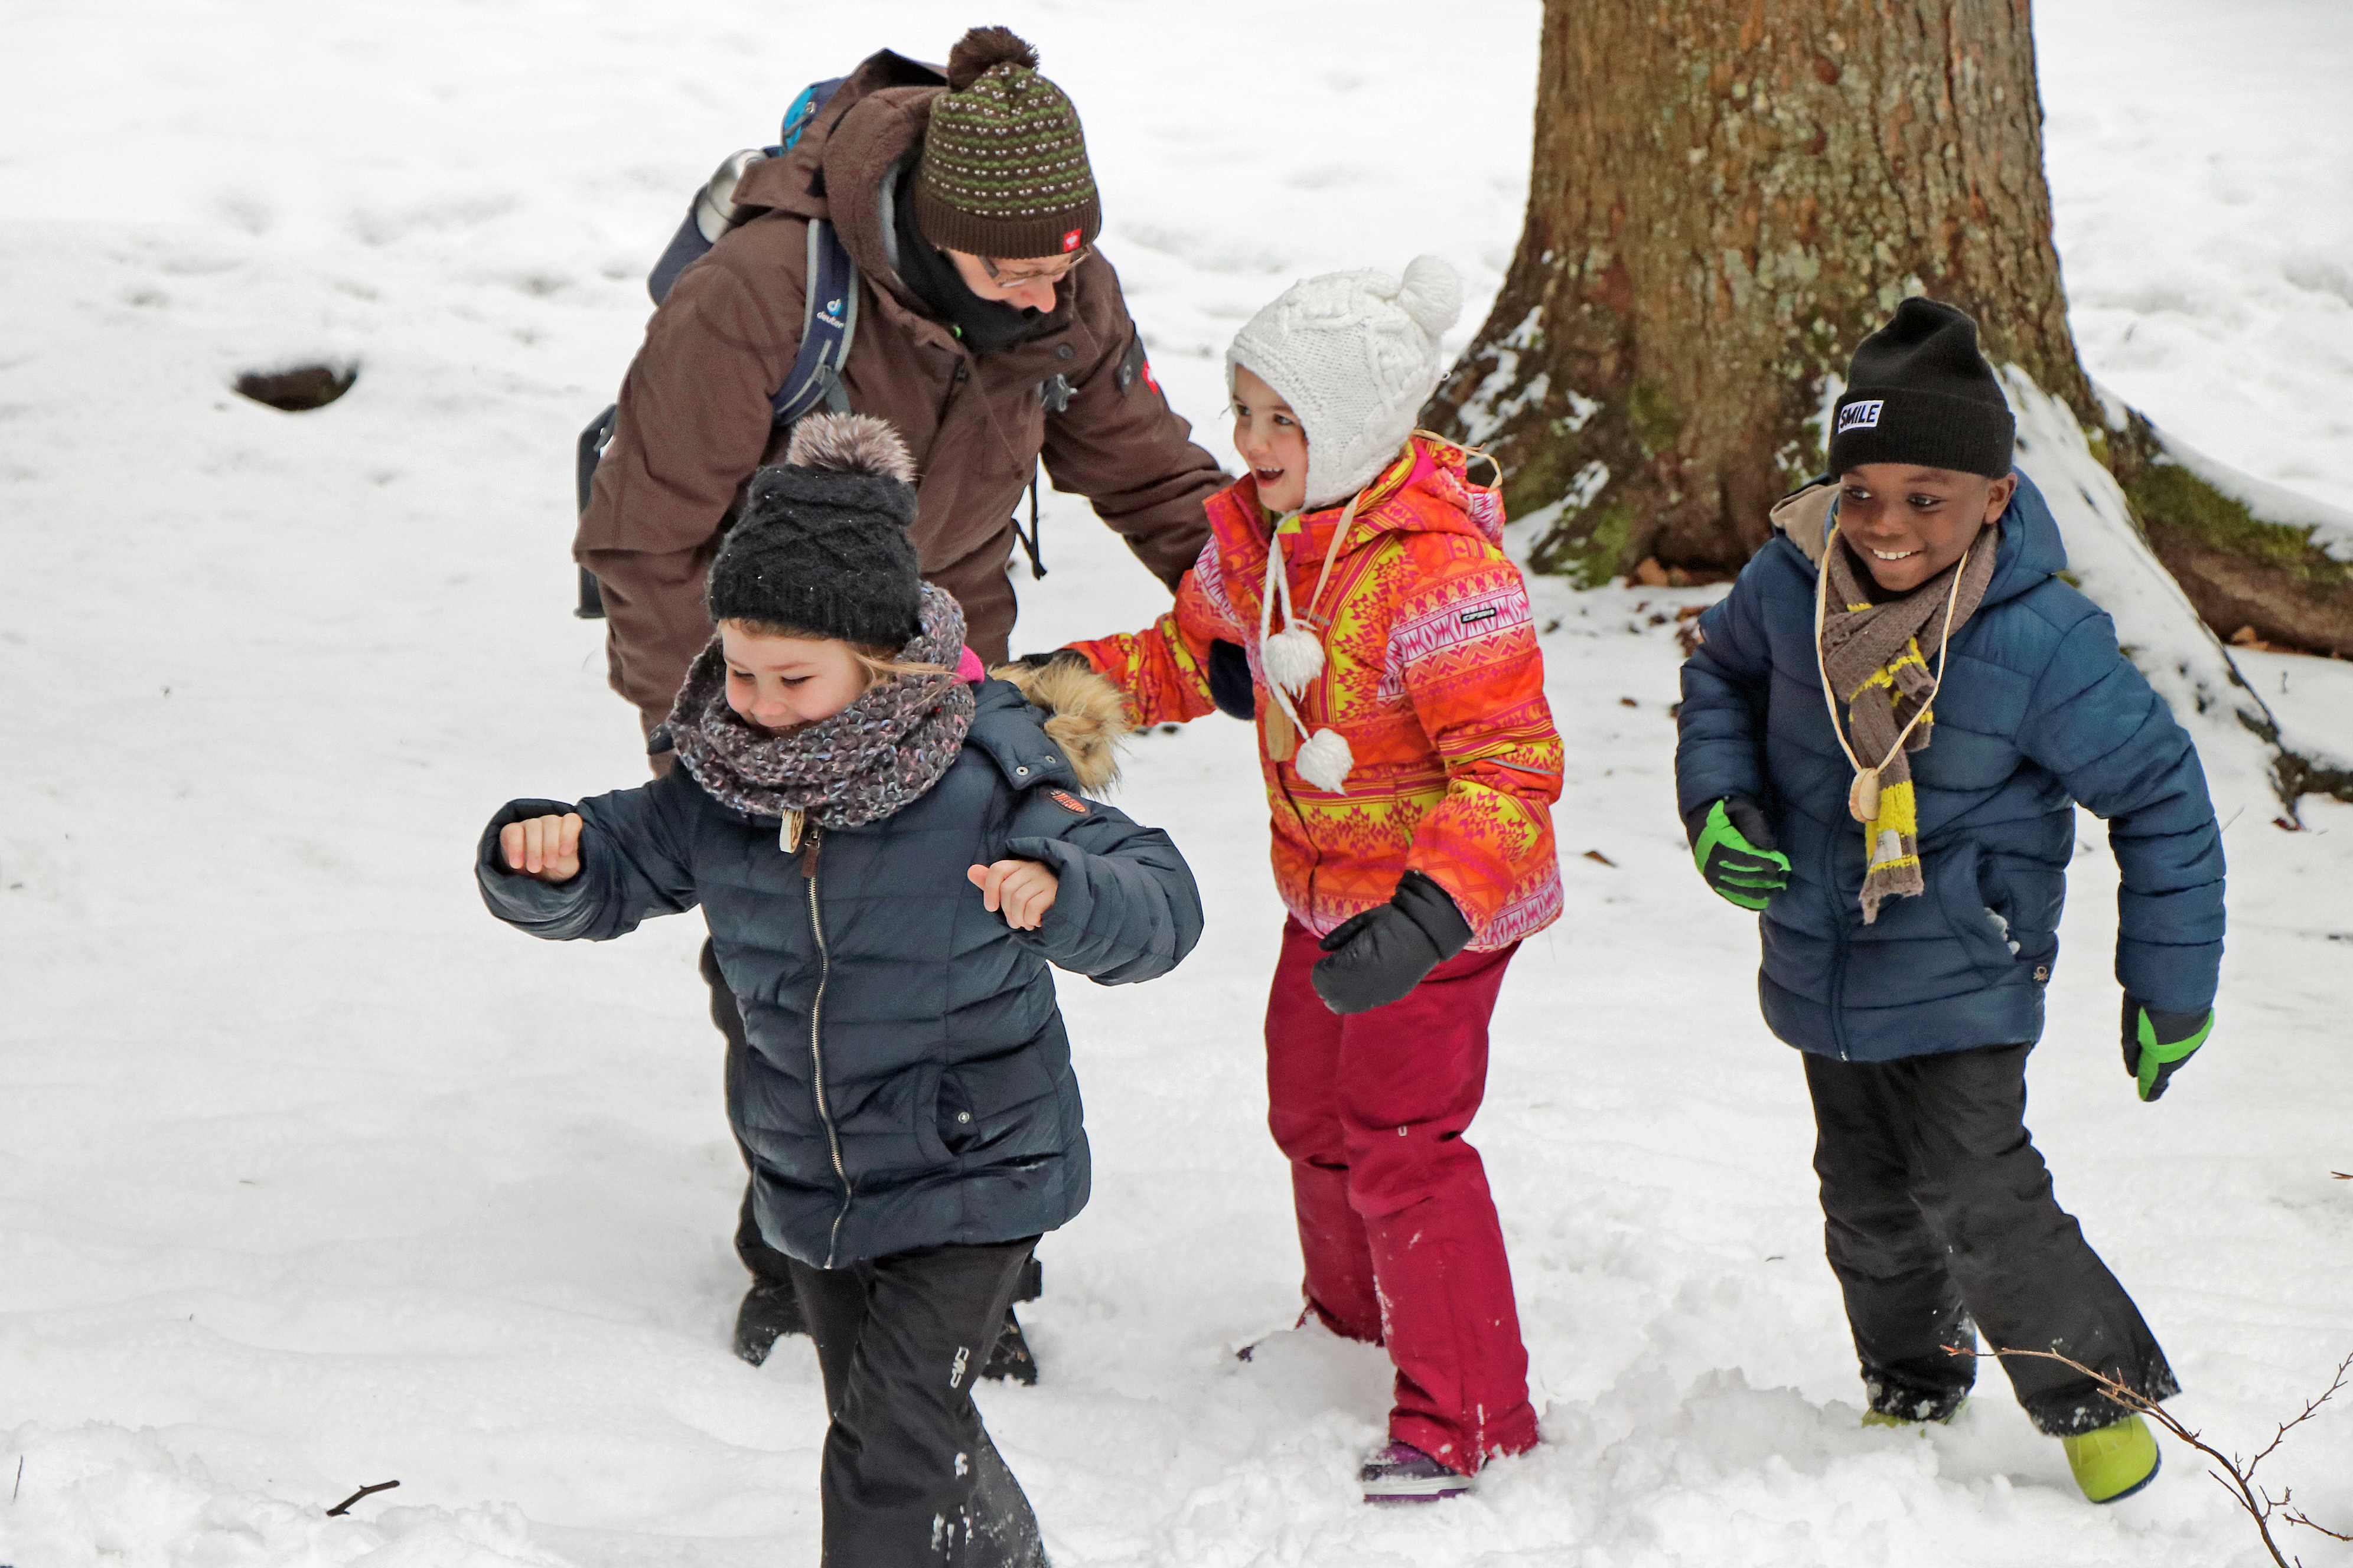
M 744 482 L 784 454 L 769 395 L 800 348 L 809 219 L 833 221 L 864 284 L 842 371 L 849 407 L 899 425 L 915 454 L 922 571 L 962 602 L 981 658 L 1007 654 L 1012 515 L 1040 456 L 1054 489 L 1094 501 L 1169 588 L 1209 534 L 1202 501 L 1226 475 L 1141 357 L 1122 376 L 1136 327 L 1099 252 L 1061 284 L 1038 336 L 988 355 L 922 315 L 899 280 L 882 190 L 920 153 L 939 87 L 894 82 L 925 78 L 875 54 L 800 146 L 746 172 L 736 202 L 767 212 L 680 273 L 621 383 L 619 428 L 572 552 L 605 590 L 612 686 L 647 729 L 668 717 L 711 639 L 704 571 Z M 1054 376 L 1075 388 L 1061 414 L 1040 400 Z

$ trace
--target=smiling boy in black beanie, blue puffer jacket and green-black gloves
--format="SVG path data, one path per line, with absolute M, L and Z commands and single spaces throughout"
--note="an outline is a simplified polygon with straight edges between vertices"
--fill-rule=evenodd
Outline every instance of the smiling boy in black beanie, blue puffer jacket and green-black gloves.
M 2198 750 L 2059 581 L 1977 322 L 1908 299 L 1864 341 L 1831 473 L 1699 618 L 1675 788 L 1718 893 L 1762 914 L 1765 1023 L 1805 1056 L 1831 1269 L 1871 1422 L 1951 1420 L 1993 1349 L 2144 1399 L 2165 1352 L 2059 1208 L 2026 1053 L 2059 957 L 2075 804 L 2122 872 L 2115 978 L 2144 1100 L 2212 1027 L 2224 860 Z M 2094 1502 L 2158 1472 L 2146 1422 L 2002 1361 Z

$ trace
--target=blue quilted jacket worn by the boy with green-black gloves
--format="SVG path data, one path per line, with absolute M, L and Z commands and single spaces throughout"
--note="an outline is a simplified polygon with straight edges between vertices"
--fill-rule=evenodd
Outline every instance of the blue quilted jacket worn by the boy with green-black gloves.
M 1814 665 L 1809 543 L 1777 534 L 1699 618 L 1675 745 L 1685 820 L 1741 795 L 1788 853 L 1791 882 L 1760 917 L 1772 1032 L 1866 1063 L 2035 1041 L 2075 802 L 2108 820 L 2122 872 L 2118 983 L 2153 1009 L 2212 1006 L 2224 860 L 2198 750 L 2108 616 L 2054 576 L 2059 524 L 2024 475 L 1986 599 L 1953 635 L 1934 741 L 1911 757 L 1927 891 L 1864 924 L 1864 832 Z

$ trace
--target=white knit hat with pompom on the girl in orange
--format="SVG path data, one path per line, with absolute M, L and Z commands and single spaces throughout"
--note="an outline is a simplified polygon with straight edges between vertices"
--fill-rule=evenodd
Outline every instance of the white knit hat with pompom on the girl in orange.
M 1365 270 L 1294 282 L 1233 334 L 1226 393 L 1233 367 L 1249 367 L 1308 437 L 1306 510 L 1346 501 L 1398 456 L 1445 371 L 1438 334 L 1461 308 L 1454 268 L 1414 256 L 1402 280 Z

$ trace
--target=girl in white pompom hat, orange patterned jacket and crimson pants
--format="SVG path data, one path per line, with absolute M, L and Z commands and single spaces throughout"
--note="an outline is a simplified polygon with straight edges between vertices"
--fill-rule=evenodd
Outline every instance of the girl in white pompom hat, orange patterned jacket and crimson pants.
M 1560 917 L 1560 736 L 1504 508 L 1414 433 L 1461 301 L 1433 256 L 1294 284 L 1226 355 L 1252 473 L 1207 503 L 1176 609 L 1075 644 L 1136 722 L 1212 710 L 1240 644 L 1289 919 L 1266 1009 L 1306 1305 L 1386 1345 L 1365 1497 L 1468 1490 L 1537 1441 L 1511 1265 L 1461 1133 L 1522 938 Z M 1064 654 L 1068 656 L 1068 654 Z

